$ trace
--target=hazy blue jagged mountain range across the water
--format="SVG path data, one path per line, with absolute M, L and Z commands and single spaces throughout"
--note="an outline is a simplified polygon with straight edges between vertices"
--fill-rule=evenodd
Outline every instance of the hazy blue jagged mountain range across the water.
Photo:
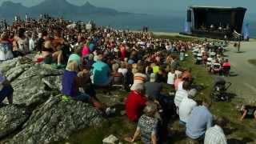
M 33 17 L 39 14 L 50 14 L 53 16 L 63 16 L 67 18 L 82 17 L 90 14 L 97 14 L 100 16 L 110 16 L 116 14 L 130 14 L 119 12 L 118 10 L 97 7 L 90 2 L 86 2 L 82 6 L 75 6 L 66 0 L 45 0 L 39 3 L 37 6 L 26 7 L 22 6 L 21 3 L 14 2 L 2 2 L 0 6 L 0 17 L 1 18 L 14 18 L 15 15 L 23 16 L 30 14 Z M 23 16 L 24 17 L 24 16 Z

